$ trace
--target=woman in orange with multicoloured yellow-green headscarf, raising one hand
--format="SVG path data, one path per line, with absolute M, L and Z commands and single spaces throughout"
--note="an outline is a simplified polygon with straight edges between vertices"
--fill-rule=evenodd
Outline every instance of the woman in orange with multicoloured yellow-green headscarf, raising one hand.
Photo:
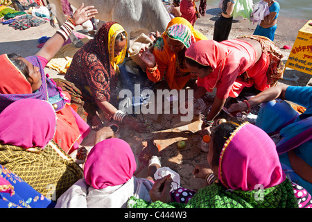
M 199 40 L 207 40 L 207 37 L 196 31 L 187 19 L 171 19 L 155 43 L 153 53 L 142 51 L 139 54 L 146 63 L 148 78 L 154 83 L 165 78 L 170 89 L 183 89 L 191 78 L 184 54 L 191 44 Z

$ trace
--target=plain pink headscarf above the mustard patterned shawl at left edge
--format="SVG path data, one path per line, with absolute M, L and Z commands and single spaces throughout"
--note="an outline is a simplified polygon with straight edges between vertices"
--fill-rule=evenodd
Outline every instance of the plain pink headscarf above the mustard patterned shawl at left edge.
M 21 99 L 0 113 L 0 123 L 1 143 L 44 148 L 55 134 L 55 110 L 47 101 Z

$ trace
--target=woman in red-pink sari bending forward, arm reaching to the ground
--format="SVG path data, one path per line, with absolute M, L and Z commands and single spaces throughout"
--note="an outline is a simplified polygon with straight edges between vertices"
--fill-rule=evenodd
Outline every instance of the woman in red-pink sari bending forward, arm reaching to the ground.
M 210 134 L 214 118 L 228 97 L 237 97 L 244 87 L 268 89 L 282 78 L 283 57 L 267 37 L 248 35 L 236 40 L 203 40 L 185 52 L 186 65 L 198 77 L 199 99 L 216 87 L 216 97 L 202 124 L 202 134 Z

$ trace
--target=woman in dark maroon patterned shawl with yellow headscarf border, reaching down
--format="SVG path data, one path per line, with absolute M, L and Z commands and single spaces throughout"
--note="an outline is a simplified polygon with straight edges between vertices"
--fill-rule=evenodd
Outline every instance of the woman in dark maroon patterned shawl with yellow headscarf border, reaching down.
M 143 132 L 145 125 L 134 117 L 118 110 L 119 68 L 127 51 L 128 36 L 123 27 L 116 22 L 103 24 L 93 40 L 73 56 L 64 78 L 55 80 L 58 86 L 71 94 L 73 109 L 92 120 L 92 127 L 102 127 L 96 114 L 100 108 L 107 119 L 114 119 Z

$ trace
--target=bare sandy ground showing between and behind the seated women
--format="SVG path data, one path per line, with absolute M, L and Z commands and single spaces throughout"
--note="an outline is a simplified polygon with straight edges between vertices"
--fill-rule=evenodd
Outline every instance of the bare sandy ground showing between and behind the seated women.
M 207 6 L 205 17 L 197 20 L 195 28 L 204 33 L 209 39 L 212 39 L 214 31 L 214 22 L 220 10 L 211 6 Z M 281 48 L 284 54 L 284 62 L 286 62 L 290 49 L 282 49 L 284 45 L 292 46 L 295 42 L 297 32 L 306 24 L 307 20 L 292 19 L 282 17 L 278 18 L 277 31 L 275 34 L 275 42 Z M 234 20 L 232 31 L 229 39 L 250 35 L 253 33 L 256 25 L 247 19 Z M 50 37 L 57 29 L 50 26 L 49 22 L 41 26 L 28 28 L 24 31 L 17 31 L 8 25 L 0 25 L 0 54 L 2 53 L 19 53 L 21 56 L 33 56 L 39 48 L 37 41 L 42 36 Z M 81 26 L 76 27 L 76 31 L 83 33 Z M 45 69 L 46 73 L 52 78 L 63 78 L 58 72 L 52 69 Z M 286 68 L 284 76 L 292 78 L 293 74 L 300 77 L 297 82 L 291 80 L 280 80 L 278 84 L 287 85 L 312 85 L 311 75 L 304 74 L 300 71 Z M 147 114 L 138 115 L 138 118 L 148 121 L 153 130 L 150 133 L 135 133 L 130 126 L 120 128 L 119 137 L 125 139 L 131 146 L 137 157 L 137 172 L 139 177 L 146 176 L 147 157 L 146 141 L 155 139 L 155 145 L 159 149 L 159 155 L 162 157 L 162 166 L 170 167 L 180 174 L 180 180 L 183 187 L 189 189 L 199 189 L 204 184 L 202 179 L 193 178 L 192 170 L 197 164 L 207 162 L 207 153 L 200 150 L 199 129 L 201 121 L 194 117 L 189 123 L 181 123 L 180 117 L 174 114 Z M 91 148 L 94 139 L 94 131 L 84 140 L 83 145 Z M 177 142 L 184 140 L 185 148 L 177 148 Z

